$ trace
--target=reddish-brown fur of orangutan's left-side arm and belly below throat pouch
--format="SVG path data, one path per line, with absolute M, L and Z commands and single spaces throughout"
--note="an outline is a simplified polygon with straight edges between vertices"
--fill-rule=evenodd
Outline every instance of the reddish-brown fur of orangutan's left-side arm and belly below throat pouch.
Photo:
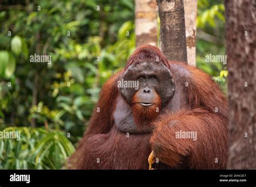
M 149 144 L 151 134 L 126 135 L 114 125 L 113 111 L 119 94 L 116 80 L 122 73 L 123 71 L 120 71 L 110 78 L 100 91 L 89 127 L 80 140 L 76 152 L 69 158 L 70 169 L 146 169 L 148 167 L 147 156 L 151 152 Z

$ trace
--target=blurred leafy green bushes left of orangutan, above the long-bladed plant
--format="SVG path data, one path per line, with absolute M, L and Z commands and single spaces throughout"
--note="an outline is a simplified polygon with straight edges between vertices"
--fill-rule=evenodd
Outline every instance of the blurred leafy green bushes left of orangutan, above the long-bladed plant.
M 26 3 L 5 2 L 0 14 L 0 127 L 47 121 L 81 136 L 103 83 L 134 49 L 134 4 Z M 51 64 L 31 63 L 34 54 Z

